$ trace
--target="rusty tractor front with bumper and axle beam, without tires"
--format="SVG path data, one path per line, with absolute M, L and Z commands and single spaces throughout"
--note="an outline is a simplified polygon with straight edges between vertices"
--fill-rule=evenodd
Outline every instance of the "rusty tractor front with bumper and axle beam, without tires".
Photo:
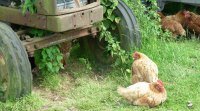
M 35 14 L 22 14 L 20 9 L 0 6 L 0 21 L 54 32 L 47 37 L 22 41 L 29 56 L 33 56 L 35 50 L 98 32 L 92 25 L 103 19 L 100 0 L 86 0 L 88 4 L 84 5 L 80 0 L 71 0 L 76 4 L 73 8 L 58 5 L 58 1 L 36 0 Z M 26 30 L 17 32 L 19 35 L 23 33 Z

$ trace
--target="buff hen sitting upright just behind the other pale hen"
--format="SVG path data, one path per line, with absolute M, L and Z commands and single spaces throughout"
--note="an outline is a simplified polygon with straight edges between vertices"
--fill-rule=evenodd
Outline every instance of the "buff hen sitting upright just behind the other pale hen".
M 134 62 L 132 64 L 132 84 L 137 82 L 155 82 L 158 80 L 157 65 L 145 54 L 133 53 Z

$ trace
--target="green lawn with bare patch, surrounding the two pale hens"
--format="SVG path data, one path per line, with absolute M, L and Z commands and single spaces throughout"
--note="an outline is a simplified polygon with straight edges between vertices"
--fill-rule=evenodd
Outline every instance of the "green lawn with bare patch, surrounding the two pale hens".
M 130 74 L 126 71 L 116 68 L 97 72 L 91 70 L 89 62 L 76 58 L 70 61 L 68 70 L 61 74 L 62 83 L 57 90 L 35 86 L 31 96 L 0 103 L 0 108 L 2 111 L 199 111 L 199 41 L 173 41 L 157 48 L 141 50 L 157 63 L 159 78 L 167 89 L 167 101 L 156 108 L 133 106 L 117 94 L 119 85 L 130 84 Z M 187 107 L 188 101 L 193 103 L 192 109 Z

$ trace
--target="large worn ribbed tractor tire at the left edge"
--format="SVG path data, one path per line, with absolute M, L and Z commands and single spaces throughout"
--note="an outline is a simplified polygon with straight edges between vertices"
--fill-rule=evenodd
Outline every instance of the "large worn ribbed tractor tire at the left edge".
M 0 100 L 14 99 L 32 90 L 31 65 L 24 46 L 8 25 L 0 22 Z

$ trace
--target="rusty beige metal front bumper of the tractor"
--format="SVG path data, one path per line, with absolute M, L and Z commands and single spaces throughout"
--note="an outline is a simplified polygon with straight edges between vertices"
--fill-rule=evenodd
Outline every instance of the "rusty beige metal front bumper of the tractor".
M 39 2 L 41 0 L 37 1 Z M 53 8 L 47 6 L 45 7 L 44 3 L 47 1 L 42 1 L 43 2 L 39 2 L 38 4 L 41 3 L 44 7 L 39 7 L 37 5 L 39 10 L 36 14 L 26 13 L 23 15 L 19 9 L 0 6 L 0 21 L 49 30 L 53 32 L 64 32 L 85 27 L 103 19 L 103 7 L 100 6 L 98 1 L 83 7 L 63 9 L 59 11 L 57 11 L 55 6 Z M 49 1 L 47 3 L 55 2 L 55 0 Z M 55 10 L 51 11 L 50 9 Z

